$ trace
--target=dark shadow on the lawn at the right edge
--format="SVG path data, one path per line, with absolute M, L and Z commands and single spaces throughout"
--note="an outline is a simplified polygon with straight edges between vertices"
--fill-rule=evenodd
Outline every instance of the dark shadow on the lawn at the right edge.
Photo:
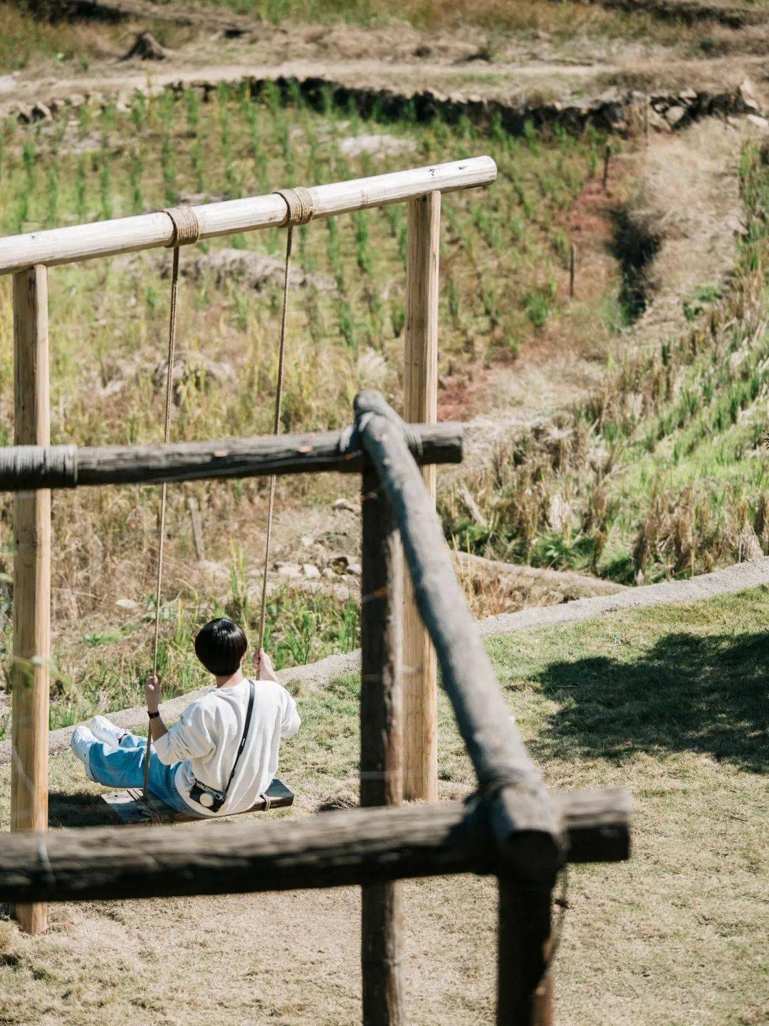
M 769 762 L 769 633 L 670 634 L 636 662 L 551 664 L 537 678 L 561 706 L 540 759 L 702 752 L 740 768 Z

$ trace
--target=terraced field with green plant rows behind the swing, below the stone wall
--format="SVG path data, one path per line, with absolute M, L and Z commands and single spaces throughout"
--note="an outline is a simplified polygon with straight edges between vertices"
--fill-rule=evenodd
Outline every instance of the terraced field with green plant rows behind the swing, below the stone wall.
M 600 173 L 604 142 L 533 128 L 514 139 L 499 125 L 469 121 L 383 123 L 322 95 L 311 109 L 298 90 L 258 95 L 219 86 L 166 90 L 130 105 L 66 107 L 36 125 L 8 120 L 0 140 L 0 213 L 6 233 L 116 218 L 179 201 L 206 202 L 281 186 L 339 181 L 489 152 L 499 180 L 488 191 L 444 202 L 441 373 L 461 389 L 495 361 L 574 318 L 567 295 L 569 238 L 562 218 Z M 202 243 L 183 254 L 177 378 L 172 436 L 206 438 L 271 430 L 282 288 L 279 230 Z M 405 210 L 330 219 L 302 227 L 293 262 L 285 384 L 286 430 L 347 423 L 363 386 L 401 392 Z M 50 275 L 53 441 L 138 442 L 161 433 L 169 254 L 156 251 L 58 268 Z M 621 280 L 599 303 L 578 308 L 573 344 L 605 351 L 621 321 Z M 10 282 L 0 283 L 0 441 L 11 438 Z M 581 342 L 580 342 L 581 339 Z M 293 508 L 330 498 L 333 484 L 281 484 Z M 311 490 L 309 490 L 311 489 Z M 226 582 L 192 578 L 188 501 L 197 499 L 206 555 Z M 171 489 L 169 622 L 161 664 L 172 687 L 199 674 L 189 634 L 205 610 L 227 608 L 250 622 L 247 573 L 260 560 L 260 483 L 205 483 Z M 3 570 L 11 569 L 4 500 Z M 145 662 L 152 616 L 157 495 L 152 488 L 54 496 L 54 585 L 59 634 L 56 722 L 96 705 L 130 704 Z M 227 523 L 228 529 L 218 525 Z M 329 544 L 333 545 L 333 541 Z M 194 560 L 193 560 L 194 561 Z M 191 583 L 191 581 L 193 583 Z M 213 594 L 212 594 L 213 593 Z M 205 596 L 205 597 L 203 597 Z M 116 623 L 68 636 L 70 619 L 97 616 L 126 599 Z M 279 665 L 354 646 L 354 603 L 331 596 L 275 596 L 268 644 Z M 132 604 L 131 604 L 132 603 Z M 173 626 L 171 626 L 173 625 Z M 83 645 L 85 642 L 85 647 Z M 105 658 L 107 654 L 109 658 Z

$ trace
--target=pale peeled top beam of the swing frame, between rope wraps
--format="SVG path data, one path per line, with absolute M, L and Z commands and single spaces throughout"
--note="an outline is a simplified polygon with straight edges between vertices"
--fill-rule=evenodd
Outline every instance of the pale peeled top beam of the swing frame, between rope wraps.
M 495 177 L 496 164 L 491 157 L 472 157 L 314 186 L 309 192 L 313 199 L 313 216 L 332 218 L 337 213 L 400 203 L 431 192 L 485 186 Z M 201 239 L 283 225 L 287 215 L 286 202 L 277 193 L 206 203 L 192 209 L 200 225 Z M 154 249 L 170 245 L 172 237 L 170 218 L 162 211 L 11 235 L 0 239 L 0 274 L 23 271 L 39 264 L 55 267 L 95 256 Z

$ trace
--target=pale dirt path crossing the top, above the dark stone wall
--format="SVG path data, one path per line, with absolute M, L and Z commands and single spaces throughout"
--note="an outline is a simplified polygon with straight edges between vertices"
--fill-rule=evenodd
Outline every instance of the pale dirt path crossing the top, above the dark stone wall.
M 165 8 L 164 12 L 167 15 Z M 216 17 L 220 16 L 217 12 Z M 631 88 L 733 91 L 748 78 L 769 101 L 766 25 L 753 30 L 759 34 L 756 38 L 735 34 L 728 53 L 721 56 L 694 56 L 649 41 L 588 35 L 559 41 L 538 33 L 533 38 L 500 35 L 490 57 L 488 34 L 472 26 L 461 32 L 422 31 L 404 23 L 394 32 L 392 26 L 362 28 L 338 23 L 259 24 L 253 32 L 234 39 L 220 31 L 212 36 L 210 28 L 184 30 L 163 62 L 121 61 L 133 33 L 148 24 L 147 17 L 134 19 L 121 27 L 117 36 L 106 36 L 102 47 L 106 55 L 81 72 L 43 62 L 0 77 L 0 111 L 72 92 L 146 88 L 148 81 L 161 88 L 175 82 L 231 82 L 248 75 L 319 76 L 349 86 L 399 91 L 432 88 L 521 104 L 574 103 Z M 213 47 L 218 55 L 215 62 L 211 61 Z

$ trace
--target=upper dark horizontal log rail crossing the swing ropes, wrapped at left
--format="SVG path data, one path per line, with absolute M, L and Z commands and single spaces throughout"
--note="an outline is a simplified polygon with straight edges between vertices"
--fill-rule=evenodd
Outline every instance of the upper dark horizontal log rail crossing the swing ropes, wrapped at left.
M 420 464 L 459 463 L 460 424 L 414 427 Z M 0 491 L 100 484 L 159 484 L 216 477 L 262 477 L 337 471 L 367 463 L 356 435 L 325 431 L 153 445 L 9 445 L 0 448 Z

